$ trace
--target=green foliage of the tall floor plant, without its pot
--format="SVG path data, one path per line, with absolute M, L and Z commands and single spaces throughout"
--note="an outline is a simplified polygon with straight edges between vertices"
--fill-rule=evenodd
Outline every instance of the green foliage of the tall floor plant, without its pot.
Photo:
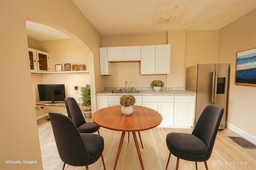
M 86 111 L 91 111 L 91 87 L 90 84 L 86 84 L 86 86 L 81 87 L 81 98 L 79 100 L 82 100 L 82 106 L 87 107 Z

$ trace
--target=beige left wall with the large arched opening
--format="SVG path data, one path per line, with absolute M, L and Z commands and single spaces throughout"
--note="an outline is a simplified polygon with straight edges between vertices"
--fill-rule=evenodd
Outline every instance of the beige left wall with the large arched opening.
M 0 16 L 0 168 L 42 169 L 25 20 L 54 27 L 93 54 L 88 56 L 94 63 L 90 75 L 96 80 L 94 92 L 104 84 L 98 55 L 102 36 L 71 0 L 0 0 Z M 6 160 L 37 163 L 6 164 Z

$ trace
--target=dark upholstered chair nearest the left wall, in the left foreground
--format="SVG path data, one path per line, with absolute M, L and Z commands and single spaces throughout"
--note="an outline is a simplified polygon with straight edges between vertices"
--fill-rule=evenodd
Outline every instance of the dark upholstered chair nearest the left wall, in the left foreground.
M 79 133 L 73 121 L 60 113 L 49 113 L 52 130 L 61 160 L 65 165 L 86 166 L 96 162 L 100 156 L 103 167 L 104 140 L 100 135 Z

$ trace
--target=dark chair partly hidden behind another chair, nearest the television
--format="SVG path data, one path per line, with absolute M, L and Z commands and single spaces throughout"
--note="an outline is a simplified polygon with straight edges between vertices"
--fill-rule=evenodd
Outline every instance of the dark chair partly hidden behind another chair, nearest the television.
M 82 111 L 74 98 L 65 98 L 65 105 L 68 117 L 74 122 L 80 133 L 94 133 L 98 131 L 100 135 L 100 126 L 96 125 L 94 122 L 85 121 Z

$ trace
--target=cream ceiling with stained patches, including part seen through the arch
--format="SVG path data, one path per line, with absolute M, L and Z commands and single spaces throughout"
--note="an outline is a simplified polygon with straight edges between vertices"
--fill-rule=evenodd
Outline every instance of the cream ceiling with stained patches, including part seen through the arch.
M 72 1 L 103 37 L 180 29 L 216 30 L 256 8 L 256 0 Z M 38 41 L 70 38 L 56 29 L 52 33 L 51 27 L 41 24 L 27 21 L 26 26 L 28 37 Z

